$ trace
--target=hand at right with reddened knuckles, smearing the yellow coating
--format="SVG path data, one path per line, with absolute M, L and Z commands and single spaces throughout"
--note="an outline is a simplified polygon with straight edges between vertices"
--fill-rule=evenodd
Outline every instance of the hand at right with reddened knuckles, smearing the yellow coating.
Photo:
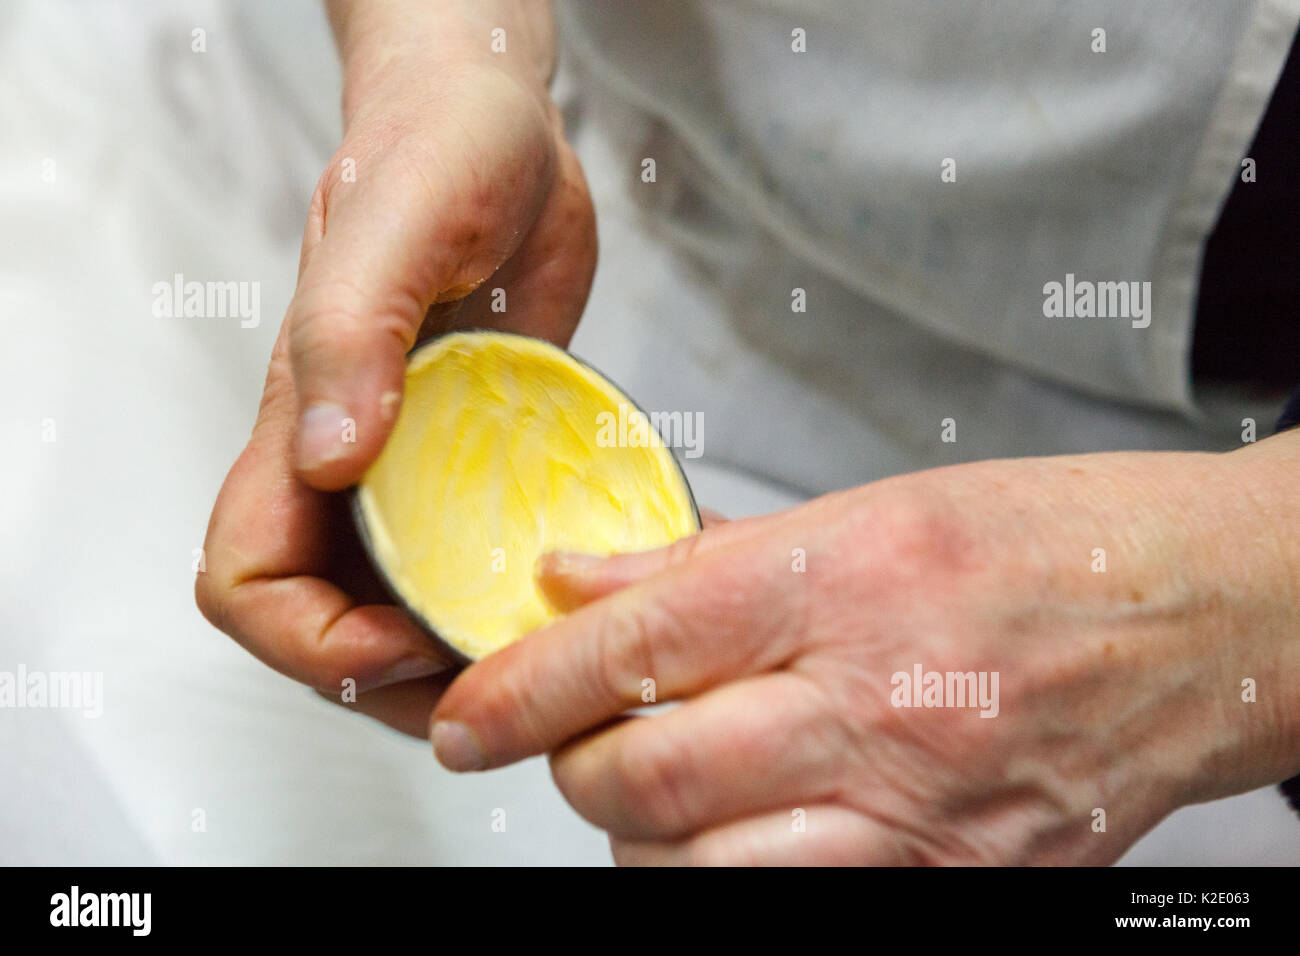
M 1286 438 L 942 468 L 551 558 L 577 610 L 463 672 L 434 749 L 552 753 L 619 862 L 1113 861 L 1180 805 L 1300 769 Z M 918 665 L 997 693 L 896 706 Z M 624 717 L 646 688 L 681 704 Z

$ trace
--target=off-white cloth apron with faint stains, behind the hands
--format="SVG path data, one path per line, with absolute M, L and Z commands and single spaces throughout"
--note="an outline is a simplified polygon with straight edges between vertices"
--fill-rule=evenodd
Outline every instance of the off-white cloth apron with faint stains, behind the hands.
M 1201 243 L 1295 0 L 560 9 L 611 277 L 577 347 L 650 407 L 702 411 L 706 459 L 822 492 L 1230 447 L 1277 412 L 1197 407 L 1188 355 Z M 1071 276 L 1149 284 L 1152 308 L 1045 316 Z

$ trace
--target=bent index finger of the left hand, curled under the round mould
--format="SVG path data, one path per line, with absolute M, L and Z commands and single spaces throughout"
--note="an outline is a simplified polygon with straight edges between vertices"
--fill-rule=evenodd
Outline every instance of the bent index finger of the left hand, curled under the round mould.
M 282 341 L 248 446 L 217 497 L 195 581 L 204 615 L 263 662 L 312 687 L 359 689 L 447 669 L 413 620 L 359 605 L 326 580 L 339 550 L 337 499 L 296 479 L 292 388 Z

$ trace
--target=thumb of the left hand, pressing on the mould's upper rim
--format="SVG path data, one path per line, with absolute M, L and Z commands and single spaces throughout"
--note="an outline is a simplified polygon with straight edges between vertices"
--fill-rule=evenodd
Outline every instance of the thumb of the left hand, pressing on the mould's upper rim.
M 354 484 L 378 457 L 396 420 L 407 351 L 430 304 L 469 294 L 517 245 L 520 230 L 494 229 L 488 216 L 473 221 L 455 190 L 430 195 L 426 186 L 407 186 L 348 183 L 359 191 L 330 206 L 328 217 L 328 196 L 313 200 L 322 234 L 304 248 L 287 323 L 298 394 L 294 460 L 321 490 Z M 394 202 L 407 193 L 419 202 Z

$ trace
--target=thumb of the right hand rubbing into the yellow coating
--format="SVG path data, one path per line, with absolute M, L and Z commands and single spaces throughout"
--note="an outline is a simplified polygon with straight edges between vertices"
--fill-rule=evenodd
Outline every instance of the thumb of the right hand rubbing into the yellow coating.
M 679 538 L 666 548 L 602 558 L 573 551 L 550 551 L 537 562 L 537 585 L 559 611 L 572 611 L 597 598 L 685 563 L 696 554 L 745 540 L 785 520 L 784 512 L 723 522 Z

